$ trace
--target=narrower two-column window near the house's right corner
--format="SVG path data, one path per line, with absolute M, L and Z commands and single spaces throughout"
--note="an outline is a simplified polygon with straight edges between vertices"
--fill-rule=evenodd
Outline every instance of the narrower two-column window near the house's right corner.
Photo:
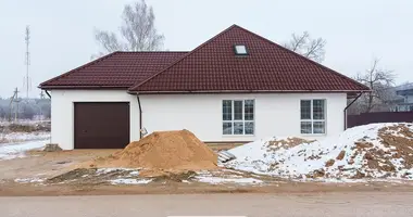
M 301 133 L 323 135 L 326 132 L 325 100 L 301 100 Z

